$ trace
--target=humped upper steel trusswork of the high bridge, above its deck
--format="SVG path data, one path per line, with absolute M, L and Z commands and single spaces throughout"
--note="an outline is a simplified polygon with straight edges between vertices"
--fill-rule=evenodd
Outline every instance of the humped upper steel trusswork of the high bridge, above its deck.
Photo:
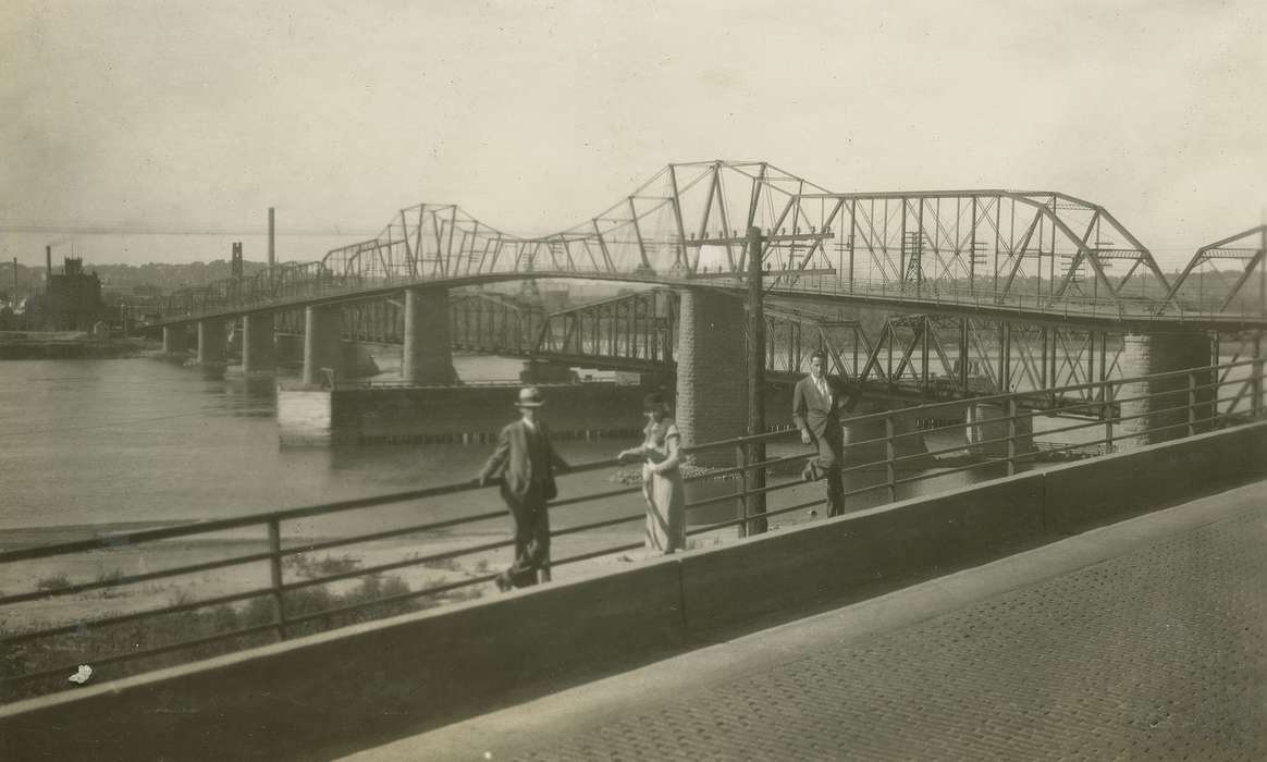
M 355 297 L 545 273 L 732 288 L 745 271 L 750 227 L 769 233 L 760 256 L 784 290 L 812 283 L 810 290 L 834 297 L 884 293 L 916 308 L 954 294 L 960 307 L 1047 314 L 1156 317 L 1186 308 L 1169 298 L 1172 285 L 1139 238 L 1104 207 L 1064 193 L 834 193 L 767 162 L 708 161 L 668 165 L 593 218 L 549 236 L 503 232 L 456 204 L 417 204 L 321 262 L 181 292 L 167 312 L 276 303 L 279 278 L 284 293 L 299 297 L 305 287 L 314 297 Z

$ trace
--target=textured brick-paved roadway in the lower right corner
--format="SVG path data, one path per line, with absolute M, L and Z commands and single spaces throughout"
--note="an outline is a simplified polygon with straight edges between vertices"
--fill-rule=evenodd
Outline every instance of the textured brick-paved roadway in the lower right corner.
M 1267 506 L 522 759 L 1267 759 Z

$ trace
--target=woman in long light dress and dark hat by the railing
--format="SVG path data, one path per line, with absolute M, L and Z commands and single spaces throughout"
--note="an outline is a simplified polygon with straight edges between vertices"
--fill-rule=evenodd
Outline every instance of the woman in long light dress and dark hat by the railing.
M 642 460 L 642 497 L 646 498 L 647 554 L 665 554 L 687 546 L 685 491 L 682 487 L 682 434 L 669 417 L 663 394 L 642 401 L 646 429 L 642 444 L 621 453 L 621 460 Z

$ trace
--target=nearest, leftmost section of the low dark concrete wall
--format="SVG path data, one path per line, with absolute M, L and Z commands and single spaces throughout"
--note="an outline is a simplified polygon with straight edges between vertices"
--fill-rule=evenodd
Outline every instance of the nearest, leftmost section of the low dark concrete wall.
M 679 565 L 541 586 L 0 707 L 0 759 L 309 759 L 680 647 Z

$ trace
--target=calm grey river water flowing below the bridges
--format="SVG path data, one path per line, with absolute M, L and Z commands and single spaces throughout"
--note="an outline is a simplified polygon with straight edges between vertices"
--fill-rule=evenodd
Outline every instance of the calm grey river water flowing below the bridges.
M 459 356 L 455 365 L 468 380 L 507 379 L 519 370 L 518 361 L 498 358 Z M 549 410 L 547 404 L 546 420 Z M 507 421 L 513 417 L 508 403 Z M 631 427 L 639 422 L 637 411 L 631 411 Z M 571 463 L 607 459 L 632 444 L 622 439 L 556 442 Z M 8 544 L 15 541 L 13 530 L 30 527 L 91 530 L 217 519 L 449 484 L 474 477 L 489 451 L 488 444 L 283 448 L 271 383 L 205 378 L 195 369 L 153 359 L 0 363 L 0 540 L 9 535 Z M 614 489 L 613 473 L 566 475 L 560 481 L 563 496 Z M 879 478 L 855 474 L 850 486 Z M 974 478 L 979 477 L 948 474 L 907 486 L 902 494 L 946 489 Z M 783 491 L 772 496 L 772 507 L 821 497 L 822 489 L 820 483 Z M 850 507 L 874 505 L 882 497 L 878 491 L 851 498 Z M 483 489 L 300 522 L 289 530 L 338 535 L 500 510 L 497 492 Z M 636 516 L 641 510 L 640 496 L 627 494 L 570 508 L 552 521 L 566 526 Z M 782 521 L 805 517 L 797 513 Z M 627 525 L 627 531 L 637 541 L 637 524 Z M 66 535 L 58 531 L 41 541 Z

